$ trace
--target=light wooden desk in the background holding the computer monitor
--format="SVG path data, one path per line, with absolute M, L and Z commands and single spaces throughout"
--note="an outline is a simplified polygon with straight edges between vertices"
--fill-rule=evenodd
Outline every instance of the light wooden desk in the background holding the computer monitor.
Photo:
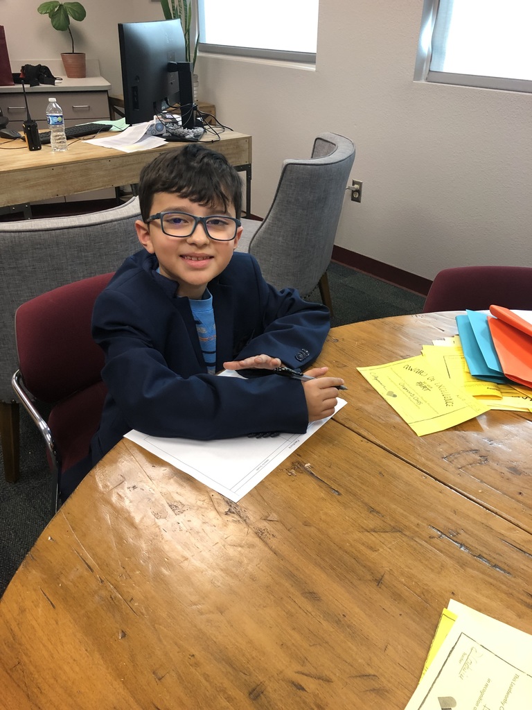
M 111 136 L 112 133 L 102 134 Z M 221 133 L 220 140 L 202 139 L 206 147 L 223 153 L 232 165 L 251 163 L 251 136 L 235 131 Z M 183 148 L 187 143 L 166 143 L 150 151 L 123 153 L 93 146 L 86 141 L 69 143 L 65 153 L 19 148 L 13 141 L 0 151 L 0 207 L 28 200 L 73 195 L 100 187 L 117 187 L 138 182 L 140 170 L 157 153 Z M 15 149 L 16 148 L 16 149 Z M 14 152 L 11 152 L 14 151 Z

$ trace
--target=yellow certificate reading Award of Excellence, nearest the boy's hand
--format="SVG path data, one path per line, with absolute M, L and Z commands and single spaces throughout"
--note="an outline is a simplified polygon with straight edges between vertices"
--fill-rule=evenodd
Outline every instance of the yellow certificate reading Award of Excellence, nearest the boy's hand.
M 419 437 L 449 429 L 489 410 L 482 401 L 453 387 L 423 355 L 359 367 L 358 371 Z

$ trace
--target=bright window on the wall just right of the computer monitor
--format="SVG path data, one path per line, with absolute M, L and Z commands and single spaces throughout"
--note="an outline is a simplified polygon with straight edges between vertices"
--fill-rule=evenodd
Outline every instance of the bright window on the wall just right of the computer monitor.
M 199 0 L 202 52 L 316 62 L 318 0 Z

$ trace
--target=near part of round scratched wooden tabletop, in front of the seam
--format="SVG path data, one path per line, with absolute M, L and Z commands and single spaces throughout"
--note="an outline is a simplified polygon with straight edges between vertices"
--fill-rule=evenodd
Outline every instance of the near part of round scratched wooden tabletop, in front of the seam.
M 532 633 L 532 536 L 331 421 L 239 503 L 133 442 L 0 602 L 8 710 L 401 710 L 450 597 Z

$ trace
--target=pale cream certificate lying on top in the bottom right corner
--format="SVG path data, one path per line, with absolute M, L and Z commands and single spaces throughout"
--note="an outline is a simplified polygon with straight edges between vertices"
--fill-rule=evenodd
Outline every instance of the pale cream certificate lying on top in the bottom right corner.
M 406 710 L 530 710 L 532 636 L 457 601 L 447 637 Z

